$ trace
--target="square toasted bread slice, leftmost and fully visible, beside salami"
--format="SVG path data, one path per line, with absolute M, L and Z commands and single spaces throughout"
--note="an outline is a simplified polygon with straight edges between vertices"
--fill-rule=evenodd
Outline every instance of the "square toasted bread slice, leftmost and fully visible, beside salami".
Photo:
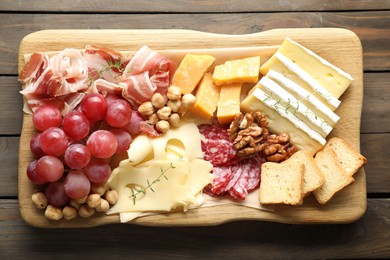
M 304 165 L 297 161 L 263 163 L 261 166 L 260 203 L 302 204 L 303 171 Z

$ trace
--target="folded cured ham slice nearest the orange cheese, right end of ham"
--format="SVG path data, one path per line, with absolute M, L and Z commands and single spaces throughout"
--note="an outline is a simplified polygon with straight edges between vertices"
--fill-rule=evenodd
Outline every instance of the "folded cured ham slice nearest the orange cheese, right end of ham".
M 127 64 L 122 78 L 126 79 L 131 75 L 144 71 L 149 71 L 150 76 L 153 76 L 157 71 L 166 71 L 172 77 L 175 71 L 175 64 L 148 46 L 143 46 Z

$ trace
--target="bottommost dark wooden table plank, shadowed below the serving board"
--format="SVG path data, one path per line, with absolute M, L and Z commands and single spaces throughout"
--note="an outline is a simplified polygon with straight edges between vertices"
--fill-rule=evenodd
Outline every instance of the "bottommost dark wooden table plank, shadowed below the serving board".
M 344 225 L 243 221 L 215 227 L 153 228 L 126 224 L 91 229 L 36 229 L 16 200 L 0 200 L 1 259 L 388 258 L 390 199 L 369 199 L 366 214 Z

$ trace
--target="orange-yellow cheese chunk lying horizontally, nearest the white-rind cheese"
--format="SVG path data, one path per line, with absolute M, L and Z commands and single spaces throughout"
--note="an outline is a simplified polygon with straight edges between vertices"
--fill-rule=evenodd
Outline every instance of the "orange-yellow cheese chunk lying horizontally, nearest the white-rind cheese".
M 257 83 L 260 56 L 227 61 L 215 66 L 213 80 L 218 86 L 235 83 Z

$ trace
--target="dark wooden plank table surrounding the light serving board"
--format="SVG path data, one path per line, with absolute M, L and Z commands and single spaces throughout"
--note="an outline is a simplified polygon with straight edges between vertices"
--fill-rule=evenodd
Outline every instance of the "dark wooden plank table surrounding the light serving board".
M 390 257 L 390 1 L 171 0 L 0 2 L 0 259 L 369 258 Z M 42 29 L 193 29 L 248 34 L 337 27 L 364 51 L 361 152 L 369 163 L 367 211 L 342 225 L 241 221 L 213 227 L 107 225 L 38 229 L 19 214 L 20 40 Z

